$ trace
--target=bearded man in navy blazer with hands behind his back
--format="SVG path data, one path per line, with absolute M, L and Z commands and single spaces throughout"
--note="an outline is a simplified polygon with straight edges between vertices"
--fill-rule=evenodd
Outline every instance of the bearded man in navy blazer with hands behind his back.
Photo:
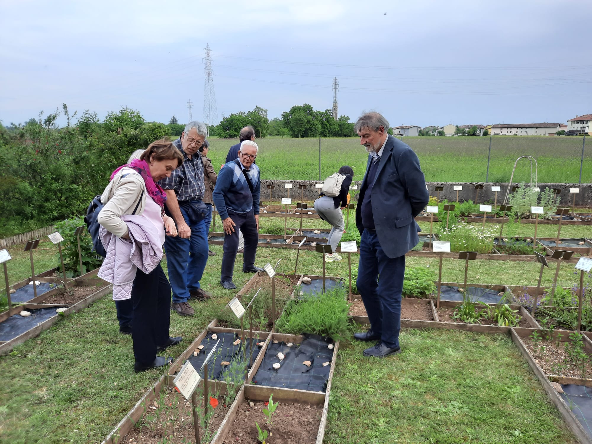
M 401 292 L 405 255 L 419 243 L 414 220 L 429 202 L 426 179 L 416 153 L 389 136 L 388 121 L 378 112 L 358 119 L 354 130 L 368 151 L 368 165 L 356 208 L 362 236 L 358 290 L 370 329 L 355 333 L 359 340 L 376 340 L 365 356 L 384 357 L 400 352 Z M 378 277 L 380 276 L 380 277 Z

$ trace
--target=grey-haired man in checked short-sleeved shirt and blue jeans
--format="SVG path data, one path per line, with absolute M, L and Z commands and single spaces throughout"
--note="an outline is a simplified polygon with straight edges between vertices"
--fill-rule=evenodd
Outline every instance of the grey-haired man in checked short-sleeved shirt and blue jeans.
M 162 179 L 160 186 L 166 192 L 166 213 L 177 225 L 179 236 L 166 236 L 166 265 L 169 271 L 173 301 L 170 309 L 180 316 L 193 316 L 195 311 L 189 299 L 202 301 L 211 293 L 201 289 L 200 280 L 208 260 L 208 239 L 204 218 L 208 208 L 204 196 L 204 164 L 198 149 L 204 144 L 208 128 L 194 121 L 185 126 L 185 131 L 173 144 L 183 155 L 183 165 L 174 170 L 169 178 Z

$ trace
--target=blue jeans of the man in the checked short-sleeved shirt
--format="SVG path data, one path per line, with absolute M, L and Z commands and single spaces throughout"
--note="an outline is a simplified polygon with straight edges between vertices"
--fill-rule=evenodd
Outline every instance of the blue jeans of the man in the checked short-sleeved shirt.
M 185 211 L 181 210 L 185 222 L 191 229 L 191 237 L 166 236 L 166 267 L 169 271 L 170 287 L 173 289 L 173 303 L 189 300 L 189 291 L 200 288 L 201 276 L 208 261 L 208 236 L 204 221 L 189 222 Z

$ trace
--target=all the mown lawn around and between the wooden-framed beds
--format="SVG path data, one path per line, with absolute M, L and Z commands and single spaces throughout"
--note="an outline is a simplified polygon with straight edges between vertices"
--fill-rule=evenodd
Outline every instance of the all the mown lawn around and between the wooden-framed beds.
M 272 218 L 261 218 L 261 222 L 263 226 L 274 223 Z M 290 225 L 296 226 L 297 220 Z M 304 226 L 327 224 L 304 220 Z M 576 236 L 581 229 L 589 227 L 564 227 L 562 233 Z M 30 273 L 28 254 L 18 252 L 20 249 L 11 249 L 14 259 L 8 265 L 12 282 Z M 169 355 L 178 356 L 236 294 L 218 284 L 222 247 L 213 245 L 211 249 L 217 256 L 208 259 L 202 285 L 214 297 L 207 303 L 191 302 L 194 317 L 172 314 L 170 334 L 181 335 L 184 341 L 170 349 Z M 35 252 L 38 271 L 55 265 L 55 252 L 52 244 L 40 245 Z M 282 259 L 277 271 L 292 273 L 295 258 L 295 250 L 262 247 L 256 265 Z M 240 272 L 242 256 L 237 259 L 234 282 L 240 288 L 252 275 Z M 408 266 L 427 265 L 435 271 L 437 263 L 436 258 L 407 258 Z M 357 265 L 358 255 L 354 254 L 352 267 Z M 445 259 L 443 280 L 462 281 L 463 267 L 464 261 Z M 163 268 L 166 271 L 164 262 Z M 469 265 L 469 282 L 536 285 L 538 271 L 536 263 L 475 260 Z M 301 252 L 298 272 L 320 275 L 321 256 Z M 348 276 L 347 258 L 327 263 L 327 275 Z M 543 285 L 551 283 L 552 275 L 551 271 L 543 274 Z M 559 276 L 565 286 L 577 283 L 572 264 L 562 264 Z M 362 359 L 363 345 L 343 343 L 326 442 L 395 442 L 392 436 L 400 437 L 400 442 L 429 442 L 426 437 L 432 437 L 433 442 L 535 442 L 535 435 L 539 442 L 574 442 L 506 337 L 409 330 L 403 332 L 401 343 L 404 353 L 381 365 Z M 0 441 L 100 442 L 160 375 L 157 371 L 134 374 L 133 362 L 131 338 L 118 333 L 110 296 L 60 320 L 10 356 L 0 358 L 4 377 Z M 430 379 L 433 375 L 436 378 Z M 467 393 L 481 403 L 472 401 Z M 379 424 L 385 427 L 374 432 Z M 384 435 L 391 427 L 391 435 Z M 339 436 L 344 430 L 349 438 Z M 514 430 L 522 437 L 512 441 Z

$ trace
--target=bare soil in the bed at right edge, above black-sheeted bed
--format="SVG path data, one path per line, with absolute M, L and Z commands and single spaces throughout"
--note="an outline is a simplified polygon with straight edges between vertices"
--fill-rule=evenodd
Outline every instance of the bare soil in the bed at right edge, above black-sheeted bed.
M 571 357 L 574 346 L 571 342 L 559 342 L 559 347 L 557 347 L 556 341 L 539 340 L 536 343 L 535 351 L 535 343 L 530 337 L 521 337 L 520 339 L 546 375 L 574 378 L 592 377 L 592 366 L 589 362 L 585 363 L 585 367 L 581 358 L 577 363 L 574 363 Z M 590 356 L 586 356 L 589 361 Z

